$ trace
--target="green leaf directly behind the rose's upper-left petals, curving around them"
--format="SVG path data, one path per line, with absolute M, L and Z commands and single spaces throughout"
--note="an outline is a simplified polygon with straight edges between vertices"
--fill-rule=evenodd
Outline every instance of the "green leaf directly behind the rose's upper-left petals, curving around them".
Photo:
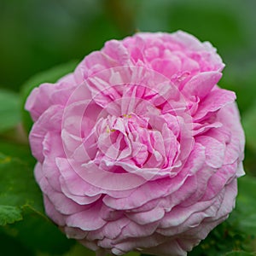
M 72 73 L 74 68 L 78 65 L 78 61 L 71 61 L 60 66 L 52 67 L 49 70 L 46 70 L 42 73 L 38 73 L 33 76 L 31 79 L 26 81 L 25 84 L 22 85 L 21 90 L 21 114 L 22 114 L 22 121 L 25 127 L 26 132 L 28 133 L 32 127 L 32 119 L 30 114 L 24 109 L 26 98 L 29 96 L 32 89 L 38 87 L 40 84 L 43 83 L 55 83 L 58 79 L 61 79 L 67 73 Z

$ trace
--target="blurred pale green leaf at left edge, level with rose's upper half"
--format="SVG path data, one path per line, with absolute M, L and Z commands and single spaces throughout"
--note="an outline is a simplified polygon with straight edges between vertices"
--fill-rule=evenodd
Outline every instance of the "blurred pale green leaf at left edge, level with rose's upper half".
M 0 132 L 20 123 L 19 96 L 8 90 L 0 90 Z

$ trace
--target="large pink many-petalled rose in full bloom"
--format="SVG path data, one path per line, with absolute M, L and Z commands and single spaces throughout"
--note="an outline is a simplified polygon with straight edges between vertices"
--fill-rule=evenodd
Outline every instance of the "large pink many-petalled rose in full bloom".
M 224 64 L 185 32 L 110 40 L 26 101 L 45 211 L 97 255 L 186 255 L 235 206 L 244 135 Z

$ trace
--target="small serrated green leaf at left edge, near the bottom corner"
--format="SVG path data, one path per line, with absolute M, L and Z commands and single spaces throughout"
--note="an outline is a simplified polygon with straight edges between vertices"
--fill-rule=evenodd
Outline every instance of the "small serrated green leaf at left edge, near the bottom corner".
M 19 207 L 0 205 L 0 225 L 12 224 L 22 219 Z

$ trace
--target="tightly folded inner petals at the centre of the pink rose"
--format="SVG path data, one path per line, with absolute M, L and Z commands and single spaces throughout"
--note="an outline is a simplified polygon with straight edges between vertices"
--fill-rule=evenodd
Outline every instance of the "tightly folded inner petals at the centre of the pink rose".
M 177 137 L 164 116 L 158 120 L 159 124 L 155 119 L 136 113 L 98 119 L 95 126 L 98 150 L 94 162 L 108 172 L 172 166 L 178 154 Z

